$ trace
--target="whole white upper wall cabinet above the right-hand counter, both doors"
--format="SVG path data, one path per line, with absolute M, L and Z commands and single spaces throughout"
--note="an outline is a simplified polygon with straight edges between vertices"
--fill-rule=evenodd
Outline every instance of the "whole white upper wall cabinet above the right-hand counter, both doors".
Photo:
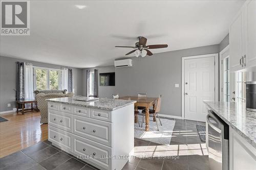
M 229 28 L 230 71 L 256 71 L 256 1 L 246 1 Z

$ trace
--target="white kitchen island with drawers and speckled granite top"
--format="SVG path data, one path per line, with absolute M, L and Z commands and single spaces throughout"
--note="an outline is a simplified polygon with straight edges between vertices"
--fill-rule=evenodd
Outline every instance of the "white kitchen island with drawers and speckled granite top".
M 122 169 L 134 149 L 134 103 L 48 100 L 48 140 L 99 169 Z

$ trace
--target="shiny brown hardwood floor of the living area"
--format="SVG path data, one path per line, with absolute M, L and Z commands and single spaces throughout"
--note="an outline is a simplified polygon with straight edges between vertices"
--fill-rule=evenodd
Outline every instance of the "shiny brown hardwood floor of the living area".
M 1 114 L 0 158 L 48 139 L 48 124 L 40 124 L 40 112 Z

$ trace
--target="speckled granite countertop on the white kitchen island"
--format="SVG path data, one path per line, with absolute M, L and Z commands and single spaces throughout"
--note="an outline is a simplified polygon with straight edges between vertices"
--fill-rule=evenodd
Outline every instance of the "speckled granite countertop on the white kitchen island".
M 117 110 L 119 108 L 131 105 L 136 103 L 136 101 L 131 100 L 119 100 L 119 99 L 106 99 L 106 98 L 99 98 L 95 101 L 76 101 L 73 98 L 56 98 L 56 99 L 47 99 L 49 102 L 55 103 L 62 103 L 62 104 L 69 104 L 74 106 L 80 107 L 90 107 L 93 109 L 101 109 L 101 110 Z

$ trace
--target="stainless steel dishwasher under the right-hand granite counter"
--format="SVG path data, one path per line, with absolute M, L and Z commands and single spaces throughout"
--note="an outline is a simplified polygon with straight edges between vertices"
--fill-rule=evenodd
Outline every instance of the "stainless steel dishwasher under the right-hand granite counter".
M 228 170 L 228 125 L 214 112 L 208 110 L 206 117 L 206 148 L 211 170 Z

